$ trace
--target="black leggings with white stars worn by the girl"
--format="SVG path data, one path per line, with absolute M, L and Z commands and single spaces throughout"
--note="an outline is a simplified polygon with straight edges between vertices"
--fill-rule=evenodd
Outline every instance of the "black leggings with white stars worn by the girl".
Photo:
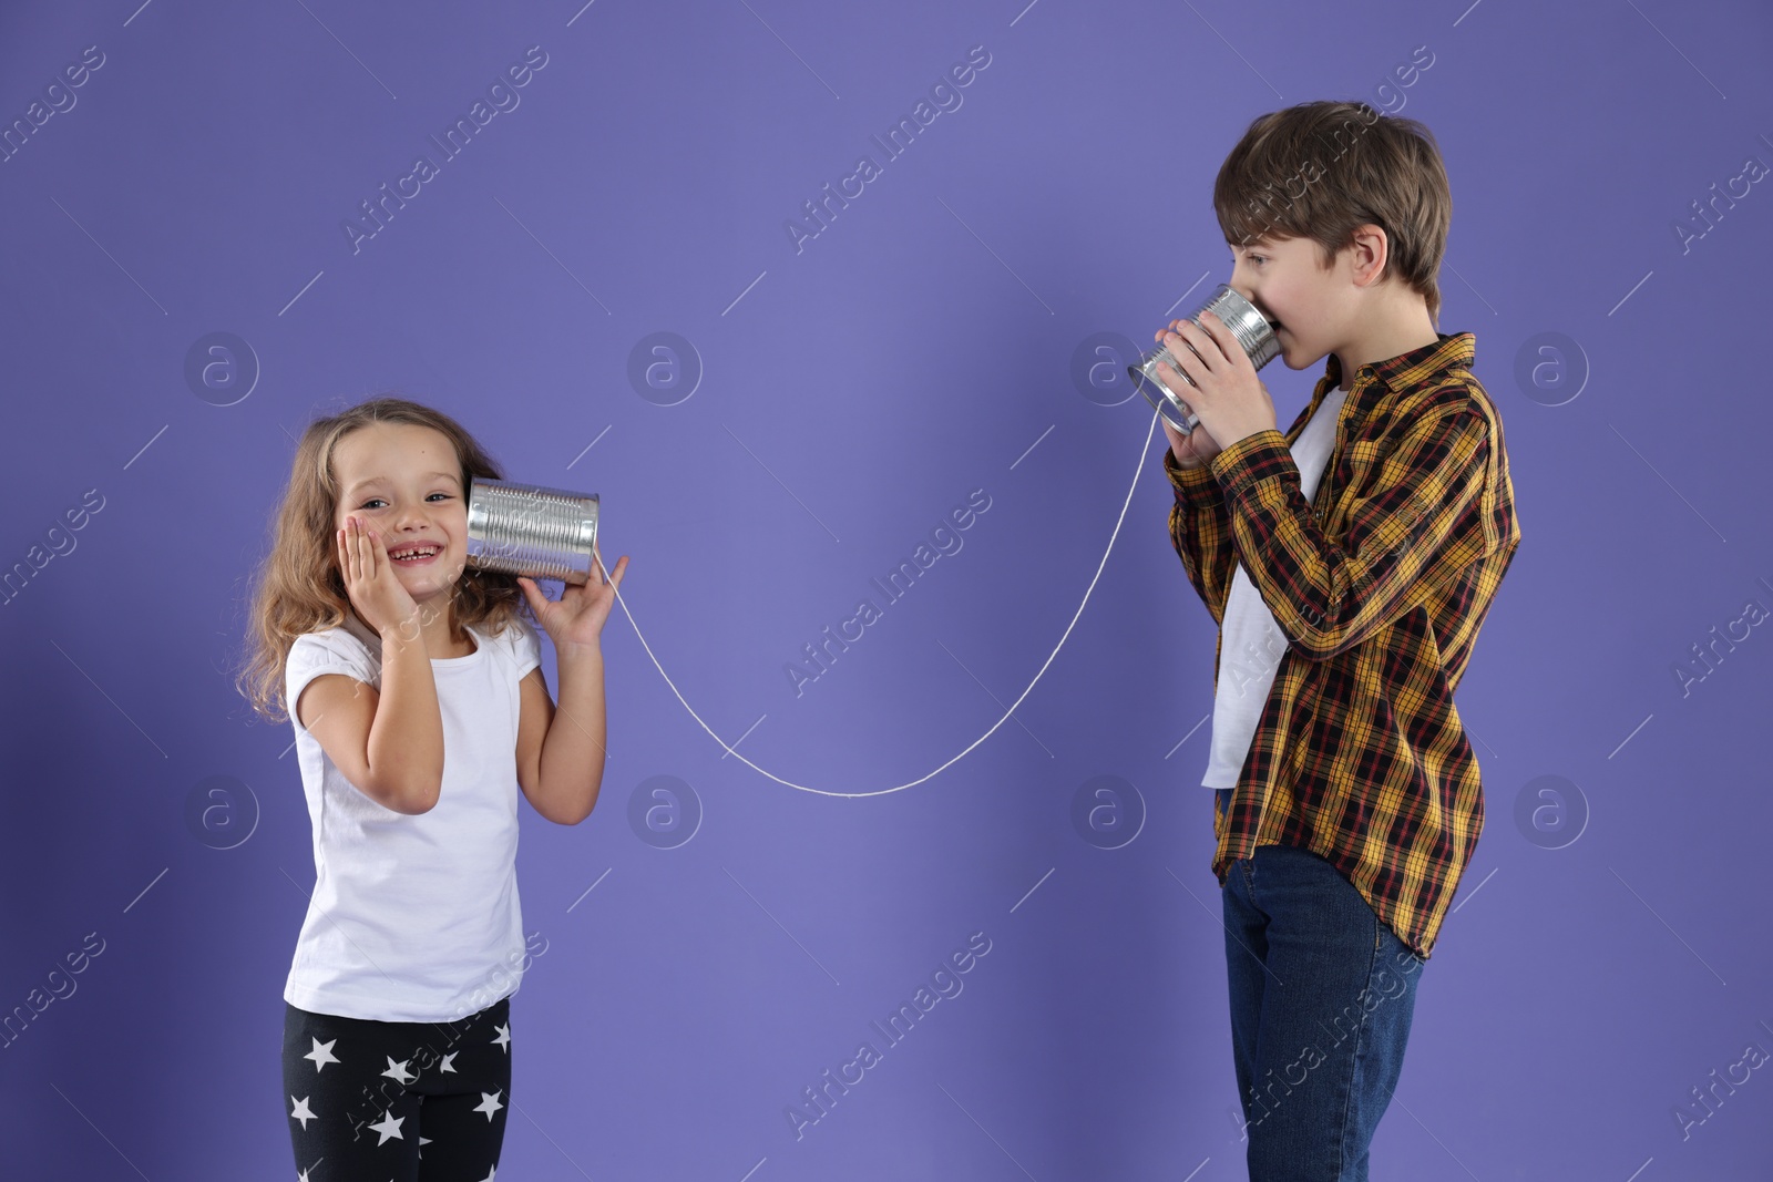
M 456 1023 L 284 1007 L 284 1113 L 301 1182 L 495 1177 L 511 1100 L 511 998 Z

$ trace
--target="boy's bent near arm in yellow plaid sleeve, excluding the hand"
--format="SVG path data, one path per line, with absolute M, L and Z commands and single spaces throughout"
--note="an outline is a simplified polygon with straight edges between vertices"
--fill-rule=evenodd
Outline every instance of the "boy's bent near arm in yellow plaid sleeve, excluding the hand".
M 1489 447 L 1489 422 L 1468 392 L 1427 400 L 1335 540 L 1312 519 L 1280 431 L 1238 439 L 1209 468 L 1225 493 L 1238 558 L 1275 622 L 1303 656 L 1323 661 L 1496 548 L 1479 505 Z

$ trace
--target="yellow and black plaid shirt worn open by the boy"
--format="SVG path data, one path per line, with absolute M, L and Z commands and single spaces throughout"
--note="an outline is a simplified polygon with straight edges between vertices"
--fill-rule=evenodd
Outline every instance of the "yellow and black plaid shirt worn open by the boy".
M 1342 381 L 1332 353 L 1293 427 L 1200 468 L 1163 466 L 1170 539 L 1215 622 L 1243 564 L 1289 645 L 1213 874 L 1257 845 L 1326 858 L 1427 959 L 1484 828 L 1477 755 L 1452 695 L 1521 540 L 1502 420 L 1472 333 L 1362 365 L 1316 503 L 1289 447 Z M 1223 633 L 1222 633 L 1223 640 Z M 1213 652 L 1218 688 L 1220 649 Z

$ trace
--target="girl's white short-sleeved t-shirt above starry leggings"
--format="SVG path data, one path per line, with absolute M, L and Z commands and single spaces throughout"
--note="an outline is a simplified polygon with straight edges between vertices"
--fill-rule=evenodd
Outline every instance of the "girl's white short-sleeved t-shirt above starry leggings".
M 431 661 L 443 718 L 443 783 L 426 813 L 356 789 L 296 718 L 301 689 L 344 673 L 381 689 L 381 636 L 344 627 L 298 636 L 284 679 L 314 824 L 314 895 L 284 999 L 383 1023 L 456 1021 L 516 992 L 518 680 L 541 665 L 535 627 L 472 626 L 475 650 Z

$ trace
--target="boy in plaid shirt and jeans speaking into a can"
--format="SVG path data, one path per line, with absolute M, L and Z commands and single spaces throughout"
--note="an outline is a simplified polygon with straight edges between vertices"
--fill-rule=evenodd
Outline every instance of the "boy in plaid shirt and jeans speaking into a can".
M 1216 317 L 1158 333 L 1200 416 L 1165 424 L 1165 470 L 1220 626 L 1202 783 L 1248 1166 L 1365 1178 L 1484 824 L 1452 695 L 1519 544 L 1514 491 L 1475 338 L 1436 331 L 1452 197 L 1427 128 L 1363 103 L 1262 115 L 1213 206 L 1287 369 L 1330 356 L 1282 434 Z

